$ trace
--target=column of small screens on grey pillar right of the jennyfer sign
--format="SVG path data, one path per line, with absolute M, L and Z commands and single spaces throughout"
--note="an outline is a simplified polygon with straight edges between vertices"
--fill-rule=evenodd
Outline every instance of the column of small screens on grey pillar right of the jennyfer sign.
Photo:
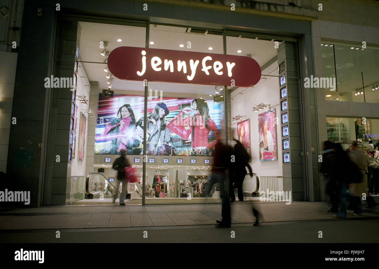
M 279 64 L 280 130 L 282 133 L 283 163 L 290 163 L 290 128 L 288 119 L 287 68 L 285 60 Z

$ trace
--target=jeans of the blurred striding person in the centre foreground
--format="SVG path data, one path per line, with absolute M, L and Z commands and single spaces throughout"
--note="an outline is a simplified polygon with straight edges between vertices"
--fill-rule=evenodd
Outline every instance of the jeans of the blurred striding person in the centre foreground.
M 230 223 L 230 204 L 229 204 L 229 195 L 225 191 L 225 173 L 212 172 L 211 178 L 207 184 L 205 197 L 210 196 L 210 192 L 212 191 L 213 185 L 215 185 L 216 183 L 219 183 L 219 187 L 220 187 L 220 198 L 222 200 L 222 210 L 221 210 L 222 222 L 229 224 Z

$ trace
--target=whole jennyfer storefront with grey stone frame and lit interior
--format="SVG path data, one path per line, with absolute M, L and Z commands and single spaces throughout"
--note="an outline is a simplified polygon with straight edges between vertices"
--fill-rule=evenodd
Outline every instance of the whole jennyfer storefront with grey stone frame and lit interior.
M 175 6 L 159 3 L 149 15 L 76 5 L 48 15 L 56 25 L 46 73 L 72 76 L 74 87 L 47 89 L 41 204 L 69 203 L 73 178 L 89 173 L 106 178 L 93 175 L 90 188 L 110 199 L 121 149 L 139 179 L 128 189 L 133 200 L 205 202 L 216 139 L 234 145 L 233 138 L 253 172 L 272 181 L 260 190 L 319 199 L 314 92 L 300 83 L 313 72 L 309 22 L 192 7 L 174 19 Z M 194 12 L 212 16 L 194 20 Z M 217 19 L 225 13 L 227 22 Z M 145 79 L 148 72 L 155 73 Z M 50 160 L 56 155 L 59 162 Z M 247 175 L 243 188 L 254 191 L 255 178 Z

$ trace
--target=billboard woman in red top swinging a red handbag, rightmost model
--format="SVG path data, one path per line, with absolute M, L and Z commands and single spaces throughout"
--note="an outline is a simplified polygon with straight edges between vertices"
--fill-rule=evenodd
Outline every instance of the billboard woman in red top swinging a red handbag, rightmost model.
M 189 114 L 189 116 L 181 119 L 184 114 Z M 210 118 L 209 108 L 204 99 L 193 100 L 191 108 L 183 108 L 167 125 L 167 128 L 186 140 L 191 134 L 192 156 L 211 156 L 217 140 L 221 139 L 220 131 Z M 210 131 L 213 131 L 216 136 L 212 142 L 208 141 Z

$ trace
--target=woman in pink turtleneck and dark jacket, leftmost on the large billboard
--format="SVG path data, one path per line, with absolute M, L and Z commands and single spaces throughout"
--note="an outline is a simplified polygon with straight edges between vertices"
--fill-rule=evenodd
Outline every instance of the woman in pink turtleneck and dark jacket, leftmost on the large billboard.
M 117 153 L 124 149 L 127 154 L 133 154 L 133 148 L 139 147 L 139 140 L 133 139 L 133 131 L 136 128 L 136 120 L 132 106 L 125 104 L 117 111 L 117 117 L 111 122 L 112 128 L 107 133 L 112 137 L 113 148 L 109 153 Z

